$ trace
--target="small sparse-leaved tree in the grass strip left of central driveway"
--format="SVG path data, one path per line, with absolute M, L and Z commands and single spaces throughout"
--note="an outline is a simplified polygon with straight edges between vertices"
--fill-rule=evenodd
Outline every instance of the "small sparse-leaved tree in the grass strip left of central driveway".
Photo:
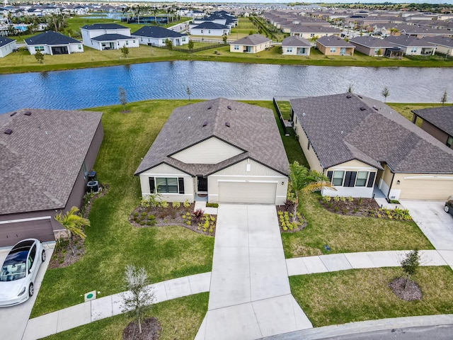
M 148 274 L 144 268 L 127 265 L 124 278 L 125 288 L 123 293 L 123 312 L 130 312 L 137 319 L 139 333 L 142 333 L 144 313 L 149 311 L 156 300 L 154 288 L 148 286 Z

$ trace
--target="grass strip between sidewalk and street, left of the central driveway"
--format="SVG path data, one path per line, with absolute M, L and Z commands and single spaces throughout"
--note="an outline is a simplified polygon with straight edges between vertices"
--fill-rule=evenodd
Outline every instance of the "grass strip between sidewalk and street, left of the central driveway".
M 209 293 L 180 297 L 161 302 L 152 308 L 149 316 L 159 319 L 162 327 L 160 340 L 192 340 L 207 312 Z M 120 314 L 62 333 L 47 336 L 46 340 L 121 340 L 122 330 L 132 321 L 130 316 Z

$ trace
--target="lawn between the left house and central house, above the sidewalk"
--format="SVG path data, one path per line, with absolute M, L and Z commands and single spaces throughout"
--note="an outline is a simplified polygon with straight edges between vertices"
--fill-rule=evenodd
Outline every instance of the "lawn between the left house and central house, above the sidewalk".
M 129 103 L 130 113 L 120 113 L 121 106 L 98 108 L 105 135 L 94 169 L 110 188 L 93 202 L 84 257 L 47 271 L 32 317 L 83 302 L 81 294 L 90 290 L 121 292 L 127 264 L 144 266 L 153 283 L 211 271 L 214 238 L 184 227 L 135 228 L 127 220 L 141 198 L 134 171 L 173 108 L 186 103 Z

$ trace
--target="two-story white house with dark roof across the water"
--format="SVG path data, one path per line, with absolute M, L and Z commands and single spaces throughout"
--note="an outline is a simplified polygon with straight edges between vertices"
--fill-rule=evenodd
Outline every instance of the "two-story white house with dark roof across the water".
M 130 28 L 117 23 L 95 23 L 80 28 L 84 45 L 96 50 L 119 50 L 123 46 L 139 47 L 139 40 L 130 35 Z

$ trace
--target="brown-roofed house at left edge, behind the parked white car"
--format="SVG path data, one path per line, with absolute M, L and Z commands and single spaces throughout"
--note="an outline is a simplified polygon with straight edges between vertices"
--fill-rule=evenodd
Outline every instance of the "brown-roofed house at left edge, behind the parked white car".
M 38 109 L 0 115 L 0 246 L 64 232 L 54 217 L 81 206 L 103 140 L 101 116 Z

